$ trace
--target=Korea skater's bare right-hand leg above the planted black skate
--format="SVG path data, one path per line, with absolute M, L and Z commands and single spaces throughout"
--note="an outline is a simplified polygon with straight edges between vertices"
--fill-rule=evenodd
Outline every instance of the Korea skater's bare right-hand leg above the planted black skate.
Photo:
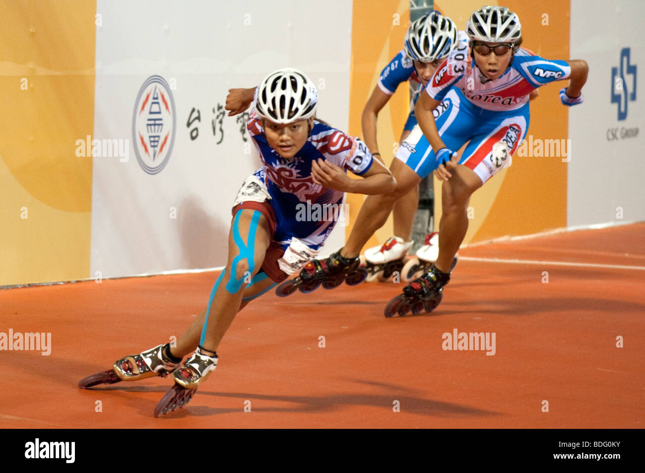
M 441 187 L 442 215 L 439 222 L 439 257 L 435 267 L 444 273 L 450 272 L 452 260 L 461 246 L 468 230 L 468 201 L 482 181 L 470 168 L 457 164 L 450 169 L 452 177 Z

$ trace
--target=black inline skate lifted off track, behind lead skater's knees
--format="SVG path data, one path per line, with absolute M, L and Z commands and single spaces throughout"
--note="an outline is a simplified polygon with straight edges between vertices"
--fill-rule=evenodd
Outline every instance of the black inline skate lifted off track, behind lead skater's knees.
M 361 259 L 358 256 L 345 258 L 341 256 L 341 250 L 342 248 L 324 260 L 308 262 L 299 276 L 283 282 L 275 289 L 275 293 L 284 297 L 295 293 L 296 289 L 301 293 L 310 293 L 321 284 L 325 289 L 338 287 L 343 281 L 348 285 L 360 284 L 367 276 L 366 269 L 360 267 Z

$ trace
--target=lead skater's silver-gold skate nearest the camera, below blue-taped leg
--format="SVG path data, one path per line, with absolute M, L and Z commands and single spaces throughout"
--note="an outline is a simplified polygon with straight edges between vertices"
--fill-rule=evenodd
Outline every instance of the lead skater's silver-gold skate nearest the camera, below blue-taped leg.
M 193 356 L 184 362 L 181 368 L 172 374 L 175 385 L 166 392 L 155 407 L 155 417 L 181 409 L 192 399 L 199 383 L 206 380 L 217 367 L 217 353 L 206 354 L 206 350 L 197 347 Z

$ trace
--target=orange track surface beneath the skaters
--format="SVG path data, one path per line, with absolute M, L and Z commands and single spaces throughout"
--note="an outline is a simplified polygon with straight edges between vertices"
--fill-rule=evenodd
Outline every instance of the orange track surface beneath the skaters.
M 633 224 L 475 246 L 460 255 L 642 268 L 643 235 L 645 224 Z M 237 316 L 219 347 L 217 371 L 184 409 L 153 418 L 171 385 L 161 378 L 76 387 L 117 358 L 183 333 L 215 278 L 0 291 L 0 332 L 52 333 L 50 356 L 0 352 L 0 426 L 644 427 L 642 269 L 462 259 L 435 312 L 390 319 L 384 305 L 401 284 L 342 285 L 287 298 L 271 292 Z M 444 351 L 442 334 L 453 329 L 495 332 L 495 355 Z M 549 412 L 542 412 L 543 400 Z M 245 401 L 251 412 L 244 412 Z M 393 412 L 395 401 L 400 412 Z

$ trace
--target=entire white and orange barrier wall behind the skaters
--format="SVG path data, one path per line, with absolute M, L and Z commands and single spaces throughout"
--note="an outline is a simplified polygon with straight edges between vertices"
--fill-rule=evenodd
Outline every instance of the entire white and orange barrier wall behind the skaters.
M 224 100 L 270 70 L 306 71 L 319 86 L 319 117 L 362 135 L 362 108 L 402 48 L 409 1 L 281 5 L 1 0 L 0 285 L 225 264 L 230 206 L 259 160 Z M 643 220 L 645 53 L 635 22 L 645 7 L 506 5 L 524 46 L 586 59 L 590 75 L 581 106 L 562 106 L 564 82 L 540 89 L 524 154 L 473 195 L 465 241 Z M 481 1 L 435 6 L 463 28 Z M 399 90 L 379 115 L 386 164 L 407 113 Z M 350 228 L 362 199 L 348 196 Z M 323 254 L 344 232 L 335 229 Z M 391 233 L 390 220 L 368 244 Z

